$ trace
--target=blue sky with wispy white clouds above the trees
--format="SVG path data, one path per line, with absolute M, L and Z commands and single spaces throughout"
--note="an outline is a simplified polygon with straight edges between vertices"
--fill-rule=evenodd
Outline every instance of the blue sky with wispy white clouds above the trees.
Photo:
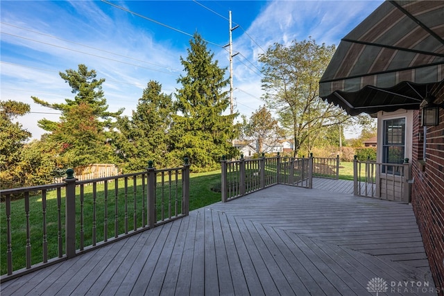
M 234 110 L 250 116 L 259 105 L 259 53 L 271 44 L 309 37 L 339 44 L 341 37 L 382 1 L 0 1 L 1 100 L 31 105 L 19 118 L 33 138 L 44 132 L 37 120 L 58 121 L 54 110 L 31 96 L 63 103 L 73 98 L 59 71 L 78 64 L 105 78 L 109 110 L 135 110 L 149 80 L 173 94 L 180 85 L 180 57 L 187 57 L 190 35 L 200 33 L 219 60 L 229 66 L 229 11 L 232 11 Z M 229 72 L 226 71 L 228 78 Z M 240 116 L 239 116 L 240 118 Z M 353 131 L 349 131 L 352 133 Z

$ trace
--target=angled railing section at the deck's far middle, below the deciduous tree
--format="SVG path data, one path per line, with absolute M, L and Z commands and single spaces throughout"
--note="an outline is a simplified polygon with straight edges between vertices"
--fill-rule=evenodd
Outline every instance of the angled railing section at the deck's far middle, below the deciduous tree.
M 222 202 L 275 184 L 311 188 L 313 157 L 260 157 L 221 161 Z

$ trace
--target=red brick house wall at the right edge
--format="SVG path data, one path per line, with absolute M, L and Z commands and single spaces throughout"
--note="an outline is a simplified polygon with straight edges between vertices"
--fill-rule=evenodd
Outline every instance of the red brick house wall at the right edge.
M 444 101 L 444 87 L 435 89 L 434 95 L 438 101 Z M 435 285 L 444 289 L 444 109 L 440 110 L 440 125 L 427 128 L 425 166 L 418 162 L 422 160 L 423 151 L 423 138 L 418 137 L 423 131 L 420 111 L 415 112 L 413 120 L 412 175 L 415 182 L 411 187 L 411 202 Z M 441 290 L 440 295 L 444 295 L 444 291 Z

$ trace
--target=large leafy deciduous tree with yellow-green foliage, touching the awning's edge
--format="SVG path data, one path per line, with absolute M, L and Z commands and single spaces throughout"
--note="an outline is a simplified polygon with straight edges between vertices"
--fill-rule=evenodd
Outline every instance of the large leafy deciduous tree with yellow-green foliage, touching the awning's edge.
M 295 155 L 302 144 L 308 149 L 329 125 L 345 125 L 350 116 L 318 96 L 319 80 L 332 58 L 334 46 L 315 40 L 293 41 L 289 46 L 273 44 L 259 55 L 262 89 L 266 105 L 275 110 L 282 127 L 294 137 Z

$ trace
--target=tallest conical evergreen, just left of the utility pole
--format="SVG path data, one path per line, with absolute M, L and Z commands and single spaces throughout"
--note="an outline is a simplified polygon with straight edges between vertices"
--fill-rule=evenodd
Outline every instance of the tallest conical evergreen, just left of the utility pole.
M 223 115 L 230 105 L 228 92 L 223 91 L 228 85 L 226 68 L 213 61 L 214 53 L 198 33 L 189 44 L 187 58 L 180 58 L 186 75 L 178 78 L 182 88 L 176 94 L 179 114 L 173 118 L 173 148 L 178 157 L 190 158 L 192 170 L 210 171 L 218 167 L 221 155 L 237 152 L 231 144 L 237 114 Z

